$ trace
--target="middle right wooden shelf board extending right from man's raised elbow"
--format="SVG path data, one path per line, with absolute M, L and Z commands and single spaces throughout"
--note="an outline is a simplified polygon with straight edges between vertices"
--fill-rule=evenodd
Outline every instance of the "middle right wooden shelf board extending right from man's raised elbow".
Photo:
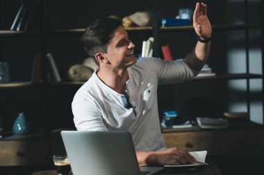
M 252 74 L 252 73 L 234 73 L 234 74 L 226 74 L 226 75 L 215 75 L 215 76 L 203 76 L 203 77 L 195 77 L 194 81 L 199 80 L 239 80 L 239 79 L 253 79 L 253 78 L 262 78 L 263 76 L 260 74 Z

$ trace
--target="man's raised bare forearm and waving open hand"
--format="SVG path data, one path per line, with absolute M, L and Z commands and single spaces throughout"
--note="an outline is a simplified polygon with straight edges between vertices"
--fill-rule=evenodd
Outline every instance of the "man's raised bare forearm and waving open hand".
M 207 6 L 204 3 L 197 3 L 193 13 L 193 27 L 195 33 L 201 39 L 211 38 L 212 27 L 207 17 Z M 201 68 L 206 63 L 211 49 L 211 41 L 207 43 L 197 42 L 195 49 L 185 56 L 187 64 L 195 69 L 201 71 Z

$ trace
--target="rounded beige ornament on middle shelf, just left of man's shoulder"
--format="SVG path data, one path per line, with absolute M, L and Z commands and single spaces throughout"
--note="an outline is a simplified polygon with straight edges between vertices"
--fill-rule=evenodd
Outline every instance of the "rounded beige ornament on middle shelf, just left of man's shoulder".
M 74 82 L 85 82 L 92 76 L 92 69 L 82 64 L 75 64 L 69 67 L 68 76 L 69 79 Z

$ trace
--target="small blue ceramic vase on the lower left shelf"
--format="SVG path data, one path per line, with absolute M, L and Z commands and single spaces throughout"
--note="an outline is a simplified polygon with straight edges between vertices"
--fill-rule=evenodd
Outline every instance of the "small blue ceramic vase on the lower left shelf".
M 13 124 L 13 133 L 16 135 L 24 135 L 28 133 L 28 124 L 26 122 L 26 118 L 24 117 L 24 113 L 19 113 L 17 119 Z

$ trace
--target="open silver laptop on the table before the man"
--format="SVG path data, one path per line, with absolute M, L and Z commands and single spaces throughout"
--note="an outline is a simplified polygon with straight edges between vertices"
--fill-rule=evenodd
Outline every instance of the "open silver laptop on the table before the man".
M 163 167 L 139 167 L 127 131 L 61 131 L 74 175 L 150 175 Z

